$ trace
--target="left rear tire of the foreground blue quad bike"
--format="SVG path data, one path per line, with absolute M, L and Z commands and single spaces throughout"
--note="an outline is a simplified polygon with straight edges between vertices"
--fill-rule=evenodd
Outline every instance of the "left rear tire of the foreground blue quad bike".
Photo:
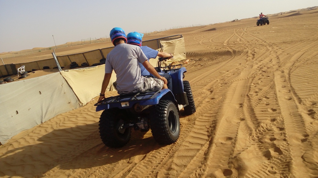
M 103 143 L 111 148 L 120 148 L 126 145 L 131 136 L 131 129 L 122 129 L 128 121 L 126 111 L 118 108 L 104 110 L 100 115 L 99 130 Z

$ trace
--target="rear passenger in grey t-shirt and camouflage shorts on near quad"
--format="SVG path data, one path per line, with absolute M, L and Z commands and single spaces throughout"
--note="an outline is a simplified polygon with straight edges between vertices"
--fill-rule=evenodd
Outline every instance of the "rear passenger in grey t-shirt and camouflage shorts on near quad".
M 144 91 L 167 89 L 167 79 L 160 76 L 156 69 L 148 62 L 140 47 L 129 45 L 125 31 L 115 27 L 110 31 L 110 38 L 115 48 L 107 54 L 105 62 L 105 76 L 98 102 L 105 98 L 105 91 L 109 84 L 113 70 L 117 77 L 118 94 L 129 94 Z M 145 78 L 141 75 L 139 62 L 156 77 Z

